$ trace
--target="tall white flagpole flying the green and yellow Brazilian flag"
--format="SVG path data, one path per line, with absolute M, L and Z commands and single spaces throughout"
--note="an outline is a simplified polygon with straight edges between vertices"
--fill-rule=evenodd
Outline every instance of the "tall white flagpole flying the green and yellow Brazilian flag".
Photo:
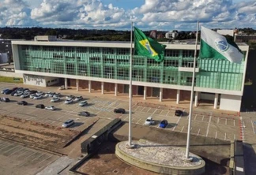
M 133 82 L 132 82 L 132 70 L 133 70 L 133 28 L 134 24 L 131 22 L 130 26 L 130 88 L 129 88 L 129 135 L 127 147 L 133 147 L 132 145 L 132 97 L 133 97 Z

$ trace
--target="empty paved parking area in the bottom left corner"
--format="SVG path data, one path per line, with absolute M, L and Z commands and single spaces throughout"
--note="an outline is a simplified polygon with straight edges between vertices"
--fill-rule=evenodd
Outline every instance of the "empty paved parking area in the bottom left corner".
M 32 175 L 54 162 L 59 156 L 37 151 L 20 143 L 0 140 L 0 158 L 1 174 Z

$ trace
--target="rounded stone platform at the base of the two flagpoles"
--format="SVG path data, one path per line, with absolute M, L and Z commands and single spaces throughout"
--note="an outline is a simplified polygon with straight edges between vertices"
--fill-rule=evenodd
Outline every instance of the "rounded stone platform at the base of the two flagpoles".
M 148 140 L 133 140 L 134 148 L 126 147 L 127 141 L 115 146 L 115 155 L 123 162 L 141 169 L 163 174 L 202 174 L 205 173 L 205 161 L 190 153 L 191 162 L 187 162 L 186 149 L 172 147 Z

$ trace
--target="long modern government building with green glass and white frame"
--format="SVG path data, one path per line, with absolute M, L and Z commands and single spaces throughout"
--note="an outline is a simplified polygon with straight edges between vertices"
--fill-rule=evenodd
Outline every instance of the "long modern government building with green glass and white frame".
M 164 43 L 164 61 L 133 55 L 133 95 L 141 99 L 190 100 L 195 43 Z M 237 43 L 243 51 L 242 64 L 228 60 L 196 61 L 194 104 L 208 100 L 213 108 L 239 111 L 243 96 L 249 46 Z M 121 42 L 81 42 L 36 36 L 33 41 L 12 41 L 15 73 L 24 84 L 51 86 L 62 83 L 92 91 L 128 94 L 130 47 Z M 197 55 L 200 46 L 198 45 Z

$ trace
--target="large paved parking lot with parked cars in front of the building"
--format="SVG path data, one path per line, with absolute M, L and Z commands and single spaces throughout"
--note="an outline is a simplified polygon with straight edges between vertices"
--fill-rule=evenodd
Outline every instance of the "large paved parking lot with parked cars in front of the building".
M 13 84 L 2 84 L 0 91 L 7 87 L 13 87 Z M 37 90 L 36 87 L 32 88 Z M 45 88 L 46 89 L 46 88 Z M 77 91 L 73 90 L 76 92 Z M 44 91 L 47 92 L 47 91 Z M 59 91 L 58 91 L 59 92 Z M 65 91 L 60 91 L 65 92 Z M 67 94 L 66 94 L 67 95 Z M 26 120 L 38 121 L 40 123 L 55 125 L 61 127 L 62 123 L 68 119 L 73 119 L 76 125 L 73 125 L 71 129 L 83 130 L 84 124 L 88 120 L 92 121 L 92 118 L 104 118 L 112 120 L 115 117 L 121 118 L 123 121 L 129 119 L 129 103 L 121 99 L 106 99 L 104 96 L 82 95 L 85 100 L 88 101 L 88 106 L 79 106 L 79 102 L 73 102 L 72 104 L 65 104 L 66 95 L 61 96 L 61 100 L 58 102 L 50 102 L 50 97 L 43 97 L 43 99 L 21 99 L 18 96 L 2 95 L 1 97 L 9 97 L 10 102 L 1 102 L 0 114 L 6 114 L 15 117 L 21 117 Z M 70 94 L 69 94 L 70 95 Z M 25 100 L 28 102 L 28 106 L 17 105 L 18 101 Z M 45 106 L 53 105 L 56 107 L 55 111 L 37 109 L 37 104 L 44 104 Z M 126 114 L 115 114 L 113 110 L 115 108 L 122 107 L 126 109 Z M 80 117 L 81 111 L 88 111 L 91 117 Z M 149 127 L 158 127 L 160 121 L 163 119 L 168 120 L 168 126 L 165 129 L 170 129 L 175 132 L 187 132 L 188 123 L 188 111 L 184 109 L 185 115 L 182 117 L 175 116 L 175 110 L 173 109 L 158 109 L 156 107 L 140 106 L 134 102 L 132 106 L 132 122 L 137 125 L 144 125 L 145 119 L 151 116 L 155 125 Z M 221 114 L 199 113 L 194 112 L 192 116 L 192 128 L 191 133 L 196 136 L 213 137 L 221 140 L 235 140 L 241 137 L 240 118 L 238 116 L 228 116 Z

